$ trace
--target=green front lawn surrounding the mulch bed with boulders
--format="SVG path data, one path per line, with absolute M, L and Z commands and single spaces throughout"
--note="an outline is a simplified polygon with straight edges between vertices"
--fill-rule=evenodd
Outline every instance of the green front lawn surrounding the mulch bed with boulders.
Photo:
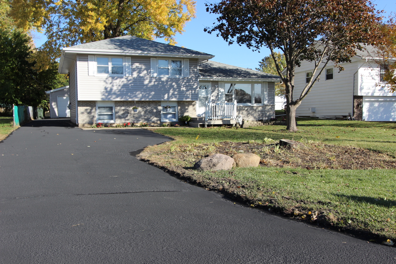
M 285 126 L 278 125 L 246 129 L 150 128 L 176 141 L 148 147 L 142 155 L 158 165 L 165 165 L 176 171 L 175 168 L 184 167 L 185 175 L 198 179 L 197 182 L 208 189 L 221 190 L 218 186 L 223 182 L 232 186 L 232 180 L 236 180 L 236 184 L 244 185 L 244 188 L 230 187 L 230 194 L 249 201 L 251 206 L 265 205 L 271 211 L 303 221 L 313 220 L 340 229 L 368 231 L 395 241 L 396 170 L 256 167 L 200 172 L 188 169 L 204 155 L 197 147 L 199 145 L 215 146 L 215 142 L 222 141 L 260 142 L 265 137 L 274 140 L 303 138 L 326 144 L 356 146 L 396 156 L 396 123 L 303 118 L 297 119 L 297 122 L 299 131 L 295 133 L 290 133 L 285 130 Z M 171 155 L 175 151 L 196 151 L 196 156 L 186 154 L 184 160 L 177 160 Z

